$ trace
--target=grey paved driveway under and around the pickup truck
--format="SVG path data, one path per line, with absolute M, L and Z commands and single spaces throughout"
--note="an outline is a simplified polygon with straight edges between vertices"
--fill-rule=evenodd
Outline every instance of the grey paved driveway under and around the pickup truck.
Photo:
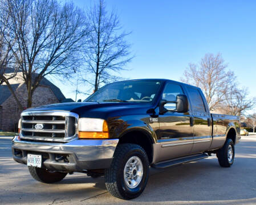
M 77 173 L 59 183 L 39 183 L 13 161 L 10 146 L 10 139 L 0 137 L 0 204 L 256 204 L 256 136 L 242 138 L 231 168 L 220 167 L 213 156 L 151 169 L 143 194 L 129 201 L 108 194 L 103 177 Z

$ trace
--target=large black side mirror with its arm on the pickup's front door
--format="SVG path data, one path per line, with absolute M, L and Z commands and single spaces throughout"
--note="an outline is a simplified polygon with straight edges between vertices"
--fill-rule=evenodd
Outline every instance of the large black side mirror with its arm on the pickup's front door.
M 176 104 L 176 109 L 173 109 L 173 104 Z M 159 114 L 164 114 L 168 111 L 185 113 L 188 112 L 189 103 L 186 95 L 177 95 L 176 101 L 160 100 Z

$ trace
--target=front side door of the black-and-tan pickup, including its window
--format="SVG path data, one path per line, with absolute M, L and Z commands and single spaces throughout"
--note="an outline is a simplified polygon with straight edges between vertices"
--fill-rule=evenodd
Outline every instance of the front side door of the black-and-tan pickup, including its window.
M 162 99 L 176 101 L 176 96 L 184 94 L 178 84 L 168 83 L 162 93 Z M 176 104 L 168 103 L 165 107 L 176 109 Z M 193 146 L 193 125 L 190 123 L 192 115 L 187 113 L 166 112 L 159 115 L 160 159 L 161 161 L 181 157 L 191 153 Z

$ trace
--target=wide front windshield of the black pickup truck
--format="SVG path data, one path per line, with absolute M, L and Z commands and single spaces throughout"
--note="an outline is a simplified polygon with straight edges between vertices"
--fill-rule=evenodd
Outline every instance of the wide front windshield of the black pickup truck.
M 148 103 L 155 99 L 160 88 L 157 80 L 122 81 L 105 85 L 89 96 L 86 101 L 101 102 L 139 102 Z

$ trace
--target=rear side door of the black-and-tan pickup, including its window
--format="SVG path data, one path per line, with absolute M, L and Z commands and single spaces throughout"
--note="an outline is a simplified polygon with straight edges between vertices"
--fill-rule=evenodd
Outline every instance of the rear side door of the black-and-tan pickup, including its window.
M 190 105 L 193 112 L 194 144 L 192 153 L 209 150 L 212 143 L 210 126 L 212 121 L 208 107 L 205 106 L 204 97 L 201 90 L 187 86 Z

